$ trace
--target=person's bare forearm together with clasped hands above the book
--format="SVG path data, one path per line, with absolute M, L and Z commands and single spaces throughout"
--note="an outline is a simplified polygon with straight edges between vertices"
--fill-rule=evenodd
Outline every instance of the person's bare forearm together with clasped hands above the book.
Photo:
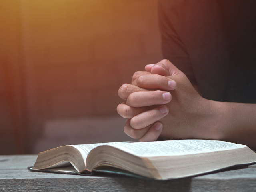
M 153 141 L 158 136 L 160 140 L 188 138 L 225 140 L 245 144 L 256 150 L 256 104 L 206 100 L 196 92 L 186 75 L 172 63 L 168 60 L 162 60 L 161 63 L 146 67 L 146 70 L 150 70 L 153 74 L 140 73 L 134 78 L 132 85 L 126 84 L 127 90 L 130 90 L 126 94 L 126 104 L 120 104 L 118 108 L 121 116 L 124 116 L 124 112 L 126 115 L 130 114 L 124 127 L 126 134 L 132 138 L 139 138 L 140 141 Z M 157 107 L 150 112 L 143 108 L 163 102 L 163 97 L 152 96 L 152 92 L 156 91 L 145 91 L 143 94 L 140 91 L 133 92 L 135 87 L 168 90 L 166 77 L 156 74 L 161 71 L 163 64 L 169 73 L 168 78 L 176 82 L 175 89 L 169 89 L 172 94 L 171 101 L 163 105 L 168 107 L 167 114 L 162 114 L 164 117 Z M 154 86 L 150 87 L 150 84 Z M 122 94 L 124 95 L 119 90 L 119 95 Z M 130 100 L 129 97 L 132 99 Z M 137 105 L 143 110 L 132 114 L 134 108 L 137 109 Z M 127 110 L 127 106 L 134 108 Z

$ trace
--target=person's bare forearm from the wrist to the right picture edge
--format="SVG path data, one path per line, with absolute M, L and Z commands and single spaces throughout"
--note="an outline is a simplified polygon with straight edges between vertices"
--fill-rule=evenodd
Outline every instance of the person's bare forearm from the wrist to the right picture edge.
M 256 150 L 256 104 L 212 101 L 219 139 Z

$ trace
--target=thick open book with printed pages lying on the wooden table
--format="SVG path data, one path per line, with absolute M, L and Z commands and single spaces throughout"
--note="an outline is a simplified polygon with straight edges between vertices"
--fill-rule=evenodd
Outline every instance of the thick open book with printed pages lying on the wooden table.
M 29 169 L 88 175 L 131 173 L 167 180 L 253 162 L 256 153 L 245 145 L 191 139 L 62 146 L 41 152 Z

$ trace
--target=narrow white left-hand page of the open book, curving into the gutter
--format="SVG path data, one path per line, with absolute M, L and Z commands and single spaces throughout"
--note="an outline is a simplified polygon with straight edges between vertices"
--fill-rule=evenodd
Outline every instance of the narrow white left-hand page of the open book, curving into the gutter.
M 95 143 L 95 144 L 71 145 L 71 146 L 80 151 L 80 153 L 82 154 L 82 156 L 84 158 L 84 162 L 86 162 L 86 158 L 87 158 L 87 155 L 89 154 L 89 152 L 92 149 L 94 149 L 98 146 L 102 146 L 102 145 L 116 146 L 116 144 L 127 144 L 127 143 L 132 143 L 132 142 L 136 142 L 136 141 L 124 141 L 124 142 L 112 142 L 112 143 Z

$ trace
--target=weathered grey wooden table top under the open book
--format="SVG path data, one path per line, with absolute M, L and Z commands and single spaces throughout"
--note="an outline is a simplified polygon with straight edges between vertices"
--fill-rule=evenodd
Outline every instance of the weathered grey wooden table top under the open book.
M 154 181 L 103 174 L 76 176 L 27 170 L 37 155 L 0 156 L 0 192 L 256 192 L 256 165 L 192 178 Z

